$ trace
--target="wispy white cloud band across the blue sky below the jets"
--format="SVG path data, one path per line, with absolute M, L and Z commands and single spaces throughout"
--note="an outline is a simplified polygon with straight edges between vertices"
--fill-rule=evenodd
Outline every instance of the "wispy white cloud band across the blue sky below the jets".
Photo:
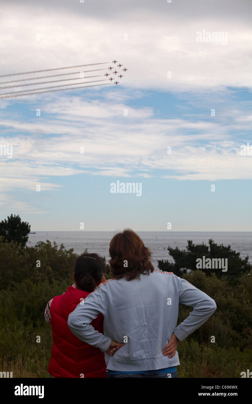
M 240 155 L 242 143 L 230 135 L 234 127 L 240 136 L 247 129 L 249 119 L 237 120 L 238 109 L 233 120 L 228 114 L 223 124 L 211 119 L 194 121 L 191 117 L 157 119 L 152 109 L 146 108 L 130 108 L 132 114 L 124 117 L 126 107 L 89 101 L 87 117 L 83 116 L 87 101 L 58 97 L 57 103 L 41 104 L 47 111 L 45 118 L 30 122 L 3 119 L 10 133 L 13 131 L 13 136 L 0 138 L 0 144 L 13 144 L 13 158 L 1 156 L 0 160 L 0 167 L 6 168 L 2 175 L 2 181 L 8 181 L 5 186 L 34 189 L 42 181 L 44 189 L 57 189 L 55 184 L 44 183 L 45 178 L 79 173 L 146 178 L 160 175 L 179 180 L 251 178 L 250 156 Z M 16 135 L 20 129 L 30 135 Z M 84 154 L 80 154 L 80 147 L 84 147 Z M 172 147 L 171 155 L 167 155 L 167 147 Z M 145 170 L 148 173 L 141 173 Z

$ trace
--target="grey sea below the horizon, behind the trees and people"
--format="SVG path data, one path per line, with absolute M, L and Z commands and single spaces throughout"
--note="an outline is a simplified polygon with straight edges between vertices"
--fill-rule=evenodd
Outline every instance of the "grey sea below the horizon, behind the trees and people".
M 249 257 L 252 263 L 252 231 L 137 231 L 144 245 L 152 251 L 152 265 L 158 269 L 158 260 L 174 262 L 167 250 L 168 246 L 185 250 L 187 240 L 194 244 L 208 244 L 212 238 L 215 243 L 231 246 L 231 250 L 240 252 L 240 257 Z M 87 248 L 88 252 L 95 252 L 110 259 L 108 250 L 113 231 L 36 231 L 30 234 L 27 246 L 35 246 L 39 241 L 55 241 L 59 246 L 64 244 L 66 250 L 74 248 L 78 255 Z

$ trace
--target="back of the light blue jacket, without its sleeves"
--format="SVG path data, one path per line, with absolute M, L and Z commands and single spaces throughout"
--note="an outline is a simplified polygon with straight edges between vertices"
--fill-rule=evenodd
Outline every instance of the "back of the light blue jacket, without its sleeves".
M 178 353 L 171 359 L 162 354 L 178 319 L 175 276 L 153 271 L 140 279 L 112 280 L 104 286 L 108 293 L 104 335 L 119 343 L 127 341 L 113 356 L 105 353 L 107 368 L 133 371 L 179 365 Z

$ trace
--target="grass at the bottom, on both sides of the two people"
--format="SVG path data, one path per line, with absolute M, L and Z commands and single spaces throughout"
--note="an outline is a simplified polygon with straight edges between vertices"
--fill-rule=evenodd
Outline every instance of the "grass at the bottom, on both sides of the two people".
M 4 328 L 9 341 L 8 351 L 1 353 L 0 368 L 2 371 L 13 372 L 13 378 L 44 378 L 51 377 L 47 372 L 52 347 L 51 327 L 40 325 L 33 330 L 17 325 L 15 330 L 10 324 Z M 16 333 L 16 337 L 13 337 Z M 36 342 L 40 336 L 40 343 Z M 7 347 L 6 347 L 7 348 Z M 240 378 L 241 371 L 247 370 L 252 363 L 252 351 L 238 347 L 226 349 L 212 343 L 199 345 L 193 337 L 178 343 L 180 378 Z

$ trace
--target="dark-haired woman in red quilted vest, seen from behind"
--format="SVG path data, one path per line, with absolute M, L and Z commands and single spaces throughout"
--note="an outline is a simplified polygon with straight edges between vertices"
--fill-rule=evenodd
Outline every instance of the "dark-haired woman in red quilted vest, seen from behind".
M 53 348 L 48 371 L 53 377 L 107 378 L 104 352 L 80 341 L 68 327 L 68 316 L 78 304 L 101 282 L 105 263 L 97 254 L 83 254 L 76 259 L 73 279 L 61 296 L 51 299 L 45 309 L 45 320 L 51 323 Z M 92 321 L 98 332 L 103 332 L 103 316 Z

